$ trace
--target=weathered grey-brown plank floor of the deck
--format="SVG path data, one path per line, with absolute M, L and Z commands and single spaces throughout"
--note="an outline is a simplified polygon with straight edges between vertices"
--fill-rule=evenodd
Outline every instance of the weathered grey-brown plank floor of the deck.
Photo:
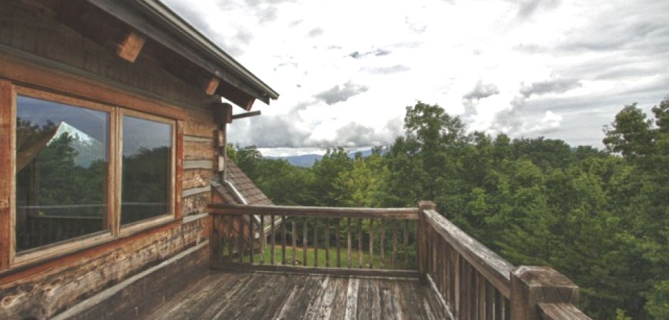
M 145 319 L 448 319 L 418 279 L 211 271 Z

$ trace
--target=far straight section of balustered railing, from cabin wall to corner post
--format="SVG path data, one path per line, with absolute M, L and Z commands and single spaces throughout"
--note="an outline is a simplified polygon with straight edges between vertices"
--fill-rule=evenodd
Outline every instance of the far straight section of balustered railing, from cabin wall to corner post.
M 418 208 L 212 204 L 209 211 L 212 267 L 417 274 Z

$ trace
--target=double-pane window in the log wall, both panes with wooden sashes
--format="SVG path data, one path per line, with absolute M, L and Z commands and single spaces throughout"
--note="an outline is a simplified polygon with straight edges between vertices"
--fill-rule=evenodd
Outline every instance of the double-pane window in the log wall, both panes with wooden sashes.
M 175 120 L 16 91 L 17 257 L 174 218 Z

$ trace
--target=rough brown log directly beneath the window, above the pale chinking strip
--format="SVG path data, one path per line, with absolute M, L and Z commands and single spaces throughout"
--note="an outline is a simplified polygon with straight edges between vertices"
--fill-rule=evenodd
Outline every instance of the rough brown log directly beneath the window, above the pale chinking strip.
M 2 274 L 0 319 L 49 318 L 110 284 L 204 241 L 206 219 L 172 223 L 35 267 Z

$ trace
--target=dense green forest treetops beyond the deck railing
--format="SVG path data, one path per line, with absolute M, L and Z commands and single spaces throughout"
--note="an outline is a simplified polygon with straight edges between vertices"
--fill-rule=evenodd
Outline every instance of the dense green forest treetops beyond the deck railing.
M 467 133 L 438 105 L 406 107 L 404 137 L 371 156 L 328 150 L 312 168 L 228 156 L 282 205 L 438 211 L 515 265 L 549 265 L 594 319 L 669 319 L 669 97 L 627 105 L 605 151 L 562 140 Z

